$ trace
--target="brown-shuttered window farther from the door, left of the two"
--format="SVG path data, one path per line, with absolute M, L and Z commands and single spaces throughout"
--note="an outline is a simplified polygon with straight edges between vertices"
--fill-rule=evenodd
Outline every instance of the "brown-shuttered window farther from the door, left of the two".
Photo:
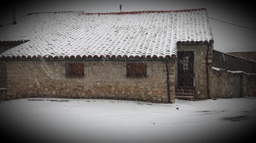
M 66 78 L 83 78 L 83 63 L 66 63 Z

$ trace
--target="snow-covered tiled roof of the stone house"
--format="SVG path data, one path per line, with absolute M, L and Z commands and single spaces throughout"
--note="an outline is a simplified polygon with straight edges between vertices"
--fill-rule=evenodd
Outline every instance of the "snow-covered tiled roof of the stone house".
M 179 42 L 214 42 L 206 9 L 31 13 L 0 32 L 2 43 L 29 40 L 2 58 L 164 58 L 176 55 Z

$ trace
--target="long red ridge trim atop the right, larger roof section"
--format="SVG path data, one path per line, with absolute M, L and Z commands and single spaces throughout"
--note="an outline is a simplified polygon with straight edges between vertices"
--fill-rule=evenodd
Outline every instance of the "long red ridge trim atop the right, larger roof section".
M 139 14 L 139 13 L 165 13 L 165 12 L 188 12 L 188 11 L 197 11 L 197 10 L 206 10 L 202 9 L 186 9 L 186 10 L 170 10 L 170 11 L 131 11 L 131 12 L 109 12 L 109 13 L 83 13 L 86 15 L 90 14 Z

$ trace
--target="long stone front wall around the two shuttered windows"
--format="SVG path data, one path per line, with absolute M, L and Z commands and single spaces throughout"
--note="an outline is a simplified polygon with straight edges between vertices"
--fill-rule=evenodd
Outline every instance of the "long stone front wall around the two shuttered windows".
M 146 78 L 126 78 L 127 62 L 83 62 L 84 78 L 65 77 L 65 62 L 8 61 L 7 99 L 27 97 L 102 98 L 168 102 L 164 62 L 146 62 Z M 175 63 L 168 63 L 174 103 Z

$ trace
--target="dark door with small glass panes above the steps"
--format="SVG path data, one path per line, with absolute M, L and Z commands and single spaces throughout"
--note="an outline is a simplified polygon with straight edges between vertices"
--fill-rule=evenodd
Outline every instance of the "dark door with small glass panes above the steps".
M 178 51 L 178 86 L 194 87 L 193 51 Z

